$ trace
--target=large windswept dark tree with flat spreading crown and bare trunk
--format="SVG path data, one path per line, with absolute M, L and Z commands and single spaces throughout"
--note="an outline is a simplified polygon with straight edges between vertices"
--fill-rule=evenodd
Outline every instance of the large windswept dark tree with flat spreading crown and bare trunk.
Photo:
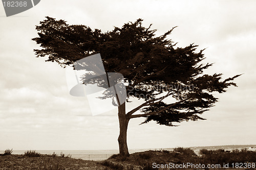
M 204 50 L 198 45 L 175 47 L 167 39 L 174 28 L 161 36 L 142 19 L 125 23 L 121 28 L 102 33 L 88 26 L 68 25 L 64 20 L 46 17 L 36 26 L 39 37 L 33 38 L 42 47 L 34 50 L 36 57 L 57 62 L 62 67 L 93 54 L 100 53 L 106 72 L 119 72 L 127 83 L 128 98 L 143 98 L 145 102 L 126 113 L 125 103 L 118 106 L 121 156 L 129 156 L 126 132 L 129 120 L 145 117 L 142 123 L 154 120 L 159 125 L 177 126 L 188 120 L 204 119 L 202 113 L 217 102 L 213 92 L 223 93 L 236 83 L 236 75 L 220 81 L 222 74 L 204 75 L 212 64 L 202 64 Z M 173 102 L 167 100 L 172 98 Z M 139 112 L 140 111 L 140 112 Z

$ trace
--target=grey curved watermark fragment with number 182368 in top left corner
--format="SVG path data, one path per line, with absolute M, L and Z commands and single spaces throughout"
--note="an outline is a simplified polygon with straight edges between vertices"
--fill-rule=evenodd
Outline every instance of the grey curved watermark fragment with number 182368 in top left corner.
M 6 16 L 16 15 L 36 6 L 40 0 L 2 0 Z

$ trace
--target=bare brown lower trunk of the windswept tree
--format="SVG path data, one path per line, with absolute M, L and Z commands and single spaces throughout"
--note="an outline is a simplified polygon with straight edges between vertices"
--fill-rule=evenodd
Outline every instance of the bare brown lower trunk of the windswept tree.
M 120 128 L 120 133 L 118 137 L 118 143 L 119 143 L 119 154 L 122 157 L 129 157 L 129 151 L 127 147 L 127 127 L 129 123 L 129 118 L 126 117 L 125 114 L 125 102 L 118 106 L 118 119 L 119 119 L 119 128 Z

